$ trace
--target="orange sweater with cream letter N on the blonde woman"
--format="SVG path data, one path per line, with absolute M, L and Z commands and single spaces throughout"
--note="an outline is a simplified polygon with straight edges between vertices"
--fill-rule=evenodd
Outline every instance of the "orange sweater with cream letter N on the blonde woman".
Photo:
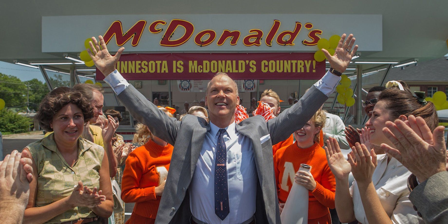
M 285 163 L 289 162 L 285 166 Z M 283 176 L 289 175 L 285 172 L 285 167 L 293 165 L 294 174 L 299 170 L 300 164 L 308 164 L 311 168 L 311 175 L 316 181 L 316 188 L 309 192 L 308 219 L 317 219 L 329 213 L 328 208 L 335 208 L 335 190 L 336 181 L 330 167 L 327 163 L 325 150 L 319 146 L 319 142 L 313 146 L 302 149 L 296 143 L 280 148 L 274 155 L 274 169 L 276 175 L 277 194 L 280 203 L 286 202 L 289 191 L 293 185 L 291 178 L 286 179 L 286 183 L 282 183 Z M 288 191 L 282 189 L 282 184 L 288 186 Z M 285 187 L 284 187 L 285 188 Z

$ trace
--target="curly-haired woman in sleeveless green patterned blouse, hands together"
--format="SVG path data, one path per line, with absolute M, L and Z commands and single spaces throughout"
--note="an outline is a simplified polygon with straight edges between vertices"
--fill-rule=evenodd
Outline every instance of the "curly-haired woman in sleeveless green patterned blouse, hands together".
M 34 168 L 24 223 L 96 224 L 112 214 L 108 155 L 81 138 L 92 111 L 69 87 L 56 88 L 42 100 L 36 119 L 54 133 L 24 149 Z

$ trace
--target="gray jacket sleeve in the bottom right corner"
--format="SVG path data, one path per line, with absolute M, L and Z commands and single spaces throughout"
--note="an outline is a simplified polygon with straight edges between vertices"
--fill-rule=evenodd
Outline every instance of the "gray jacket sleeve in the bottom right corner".
M 409 194 L 425 223 L 448 223 L 448 172 L 439 172 Z

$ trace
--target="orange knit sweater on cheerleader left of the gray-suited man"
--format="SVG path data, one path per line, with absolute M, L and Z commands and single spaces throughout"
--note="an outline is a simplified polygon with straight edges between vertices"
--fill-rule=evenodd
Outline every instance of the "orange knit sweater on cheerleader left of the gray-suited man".
M 121 199 L 126 203 L 136 202 L 135 214 L 155 219 L 160 203 L 160 196 L 155 195 L 155 186 L 159 185 L 157 167 L 169 169 L 172 149 L 170 144 L 159 146 L 150 139 L 132 151 L 126 159 Z

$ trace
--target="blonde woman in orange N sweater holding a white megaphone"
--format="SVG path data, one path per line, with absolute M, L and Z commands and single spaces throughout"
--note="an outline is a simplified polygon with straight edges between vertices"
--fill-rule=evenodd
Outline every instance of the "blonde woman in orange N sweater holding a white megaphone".
M 296 142 L 274 155 L 280 212 L 295 181 L 309 190 L 308 224 L 331 224 L 328 208 L 335 208 L 335 177 L 328 167 L 325 150 L 319 145 L 325 119 L 325 113 L 319 109 L 302 129 L 293 133 Z M 300 164 L 310 165 L 311 174 L 298 171 Z

